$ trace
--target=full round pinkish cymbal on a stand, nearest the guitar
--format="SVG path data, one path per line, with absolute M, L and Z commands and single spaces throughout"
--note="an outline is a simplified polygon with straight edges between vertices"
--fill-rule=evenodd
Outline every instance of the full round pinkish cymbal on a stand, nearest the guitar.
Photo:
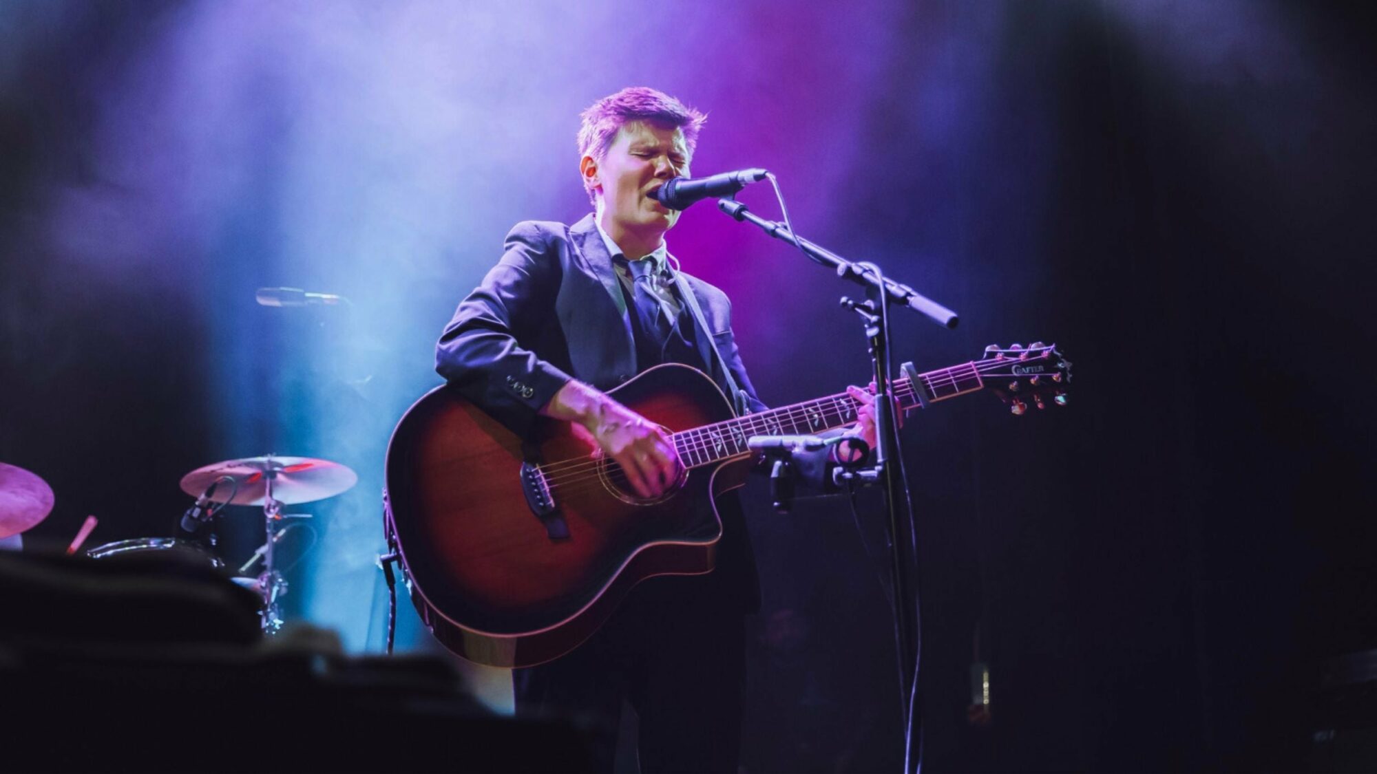
M 267 479 L 273 478 L 273 499 L 288 505 L 333 497 L 358 483 L 358 475 L 348 467 L 311 457 L 245 457 L 215 463 L 182 477 L 182 492 L 200 497 L 212 483 L 220 481 L 211 494 L 215 503 L 231 505 L 262 505 Z M 238 490 L 230 481 L 238 482 Z M 234 497 L 230 500 L 230 497 Z

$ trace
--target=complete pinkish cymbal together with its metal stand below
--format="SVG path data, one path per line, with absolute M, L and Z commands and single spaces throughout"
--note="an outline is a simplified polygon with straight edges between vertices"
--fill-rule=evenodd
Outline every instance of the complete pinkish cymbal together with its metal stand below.
M 230 492 L 218 490 L 222 481 L 233 481 Z M 348 467 L 328 460 L 310 457 L 246 457 L 229 460 L 197 468 L 182 477 L 182 492 L 200 496 L 224 505 L 262 505 L 264 541 L 242 567 L 240 574 L 252 570 L 262 559 L 263 572 L 257 578 L 235 578 L 234 583 L 252 588 L 263 598 L 263 634 L 274 635 L 282 628 L 280 599 L 286 594 L 286 580 L 278 569 L 274 545 L 289 527 L 278 522 L 291 518 L 310 518 L 310 514 L 284 514 L 282 505 L 324 500 L 348 490 L 358 482 L 358 475 Z M 223 508 L 223 505 L 222 505 Z

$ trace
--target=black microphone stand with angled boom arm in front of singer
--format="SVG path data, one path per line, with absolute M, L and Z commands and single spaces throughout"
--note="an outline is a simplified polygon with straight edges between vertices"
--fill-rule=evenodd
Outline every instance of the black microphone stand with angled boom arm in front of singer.
M 921 745 L 921 719 L 918 702 L 918 656 L 920 656 L 920 621 L 918 621 L 918 584 L 917 584 L 917 525 L 913 516 L 913 503 L 905 497 L 903 482 L 901 479 L 899 457 L 902 443 L 898 432 L 898 417 L 894 412 L 894 391 L 890 384 L 890 332 L 888 315 L 881 304 L 907 306 L 925 314 L 943 328 L 954 328 L 957 315 L 942 304 L 924 297 L 921 293 L 885 278 L 879 267 L 866 263 L 852 263 L 840 255 L 818 247 L 803 237 L 793 234 L 784 223 L 766 220 L 746 209 L 745 204 L 734 198 L 719 198 L 717 207 L 738 222 L 750 222 L 777 240 L 784 240 L 796 245 L 814 263 L 833 269 L 839 277 L 850 280 L 866 289 L 866 302 L 858 303 L 843 299 L 843 306 L 856 311 L 865 324 L 865 333 L 870 348 L 870 361 L 874 366 L 874 424 L 876 424 L 876 464 L 879 483 L 884 490 L 884 505 L 888 515 L 885 530 L 890 540 L 890 573 L 894 581 L 894 616 L 898 629 L 898 657 L 901 690 L 903 691 L 906 749 L 905 768 L 909 766 L 913 753 L 913 744 Z M 906 514 L 901 512 L 899 500 L 903 497 L 907 504 Z M 912 551 L 901 544 L 899 537 L 909 537 Z M 907 555 L 906 555 L 907 554 Z M 921 751 L 921 746 L 918 748 Z M 921 760 L 921 756 L 916 757 Z

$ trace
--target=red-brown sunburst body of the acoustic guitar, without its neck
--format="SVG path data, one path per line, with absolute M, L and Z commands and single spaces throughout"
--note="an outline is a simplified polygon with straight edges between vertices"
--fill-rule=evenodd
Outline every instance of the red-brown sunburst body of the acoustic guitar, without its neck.
M 610 394 L 669 431 L 734 416 L 717 386 L 683 365 Z M 548 514 L 529 499 L 543 490 L 530 464 L 541 466 Z M 741 486 L 750 466 L 737 457 L 686 471 L 646 501 L 582 428 L 543 419 L 518 438 L 437 387 L 392 432 L 386 529 L 437 639 L 471 661 L 532 667 L 578 646 L 642 580 L 711 572 L 722 537 L 713 497 Z

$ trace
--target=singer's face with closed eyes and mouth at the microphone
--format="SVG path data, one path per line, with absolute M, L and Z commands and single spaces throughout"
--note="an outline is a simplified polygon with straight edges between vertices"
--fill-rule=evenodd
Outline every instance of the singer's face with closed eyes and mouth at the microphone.
M 600 163 L 585 156 L 581 169 L 602 191 L 605 229 L 646 238 L 664 234 L 679 220 L 677 209 L 647 196 L 671 178 L 688 175 L 688 146 L 677 127 L 631 121 L 617 131 Z

